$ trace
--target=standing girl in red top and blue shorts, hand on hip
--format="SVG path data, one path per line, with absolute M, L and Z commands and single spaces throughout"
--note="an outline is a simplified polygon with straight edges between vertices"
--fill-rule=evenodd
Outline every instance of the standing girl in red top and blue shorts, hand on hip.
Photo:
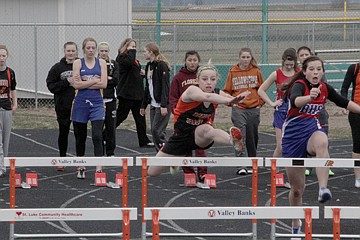
M 293 77 L 298 72 L 297 66 L 297 54 L 295 49 L 288 48 L 282 55 L 281 68 L 275 70 L 270 74 L 266 81 L 260 86 L 258 90 L 259 96 L 270 106 L 275 108 L 274 111 L 274 123 L 276 135 L 276 148 L 273 153 L 273 157 L 281 157 L 281 136 L 282 136 L 282 125 L 286 118 L 288 110 L 288 102 L 284 101 L 284 92 L 281 91 L 281 85 L 286 82 L 289 78 Z M 276 99 L 272 101 L 266 94 L 266 91 L 270 86 L 276 84 Z

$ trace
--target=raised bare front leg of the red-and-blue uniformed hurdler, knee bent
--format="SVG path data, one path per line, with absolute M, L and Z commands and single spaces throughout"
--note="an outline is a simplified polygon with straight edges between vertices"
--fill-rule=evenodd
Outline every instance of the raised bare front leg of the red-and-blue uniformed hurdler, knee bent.
M 308 141 L 307 151 L 317 158 L 329 158 L 328 138 L 326 134 L 321 131 L 314 132 Z M 316 175 L 319 182 L 319 188 L 326 188 L 329 179 L 329 168 L 317 167 Z

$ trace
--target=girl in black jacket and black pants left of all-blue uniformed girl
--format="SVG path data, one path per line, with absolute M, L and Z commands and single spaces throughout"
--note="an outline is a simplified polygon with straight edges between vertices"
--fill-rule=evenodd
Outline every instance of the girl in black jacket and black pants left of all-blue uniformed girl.
M 75 89 L 71 86 L 72 66 L 77 58 L 78 48 L 74 42 L 64 44 L 64 57 L 51 67 L 46 78 L 47 88 L 54 94 L 56 120 L 59 126 L 58 148 L 60 157 L 66 157 L 68 138 L 71 126 L 71 107 Z M 59 166 L 58 171 L 65 167 Z

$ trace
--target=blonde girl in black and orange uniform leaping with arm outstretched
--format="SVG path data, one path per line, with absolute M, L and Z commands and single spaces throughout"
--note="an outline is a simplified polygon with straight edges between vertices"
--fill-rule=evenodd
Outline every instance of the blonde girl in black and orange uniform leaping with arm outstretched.
M 223 130 L 213 128 L 209 120 L 215 111 L 215 104 L 237 104 L 250 92 L 245 91 L 236 97 L 214 93 L 218 78 L 217 69 L 210 64 L 198 69 L 198 86 L 190 86 L 181 95 L 174 109 L 174 133 L 157 153 L 157 157 L 190 155 L 195 149 L 210 148 L 214 142 L 232 144 L 239 150 L 242 145 L 240 129 L 230 128 L 230 136 Z M 168 169 L 169 167 L 150 166 L 148 174 L 157 176 Z M 172 169 L 178 168 L 170 167 L 170 171 Z

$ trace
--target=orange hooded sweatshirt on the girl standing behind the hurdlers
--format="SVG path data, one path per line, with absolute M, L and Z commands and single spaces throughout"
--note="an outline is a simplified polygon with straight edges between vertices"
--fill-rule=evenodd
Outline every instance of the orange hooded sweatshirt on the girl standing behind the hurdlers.
M 237 105 L 238 108 L 256 108 L 264 105 L 264 101 L 258 94 L 260 85 L 264 82 L 261 71 L 258 67 L 249 65 L 246 70 L 240 69 L 236 64 L 230 68 L 226 79 L 224 92 L 231 96 L 237 96 L 246 90 L 251 93 L 244 102 Z

